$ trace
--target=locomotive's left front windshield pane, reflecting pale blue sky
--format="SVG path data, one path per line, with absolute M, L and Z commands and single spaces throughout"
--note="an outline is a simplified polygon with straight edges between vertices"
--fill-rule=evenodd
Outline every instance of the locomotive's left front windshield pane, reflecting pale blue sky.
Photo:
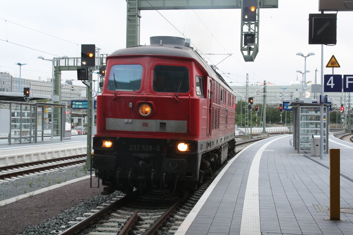
M 110 68 L 107 88 L 110 91 L 138 91 L 141 79 L 141 64 L 115 64 Z

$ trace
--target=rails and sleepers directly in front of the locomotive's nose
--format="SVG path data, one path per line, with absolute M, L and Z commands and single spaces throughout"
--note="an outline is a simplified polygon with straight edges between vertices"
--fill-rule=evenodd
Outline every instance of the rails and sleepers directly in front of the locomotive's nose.
M 138 194 L 137 190 L 131 197 L 114 198 L 102 206 L 85 213 L 83 217 L 71 221 L 74 224 L 60 235 L 110 233 L 119 235 L 134 234 L 152 235 L 168 222 L 172 213 L 188 196 L 163 196 L 157 190 Z

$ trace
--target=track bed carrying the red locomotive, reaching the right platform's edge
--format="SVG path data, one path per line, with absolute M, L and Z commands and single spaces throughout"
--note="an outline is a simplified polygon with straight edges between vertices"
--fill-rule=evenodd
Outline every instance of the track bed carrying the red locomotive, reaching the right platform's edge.
M 236 145 L 239 147 L 262 139 L 255 138 Z M 151 190 L 149 193 L 138 194 L 139 190 L 135 190 L 132 196 L 116 197 L 90 212 L 84 213 L 82 217 L 77 217 L 68 225 L 61 226 L 56 230 L 56 234 L 152 235 L 161 232 L 174 234 L 229 160 L 231 158 L 213 173 L 212 178 L 205 179 L 204 183 L 191 196 L 189 196 L 189 192 L 183 193 L 182 196 L 164 196 L 169 192 L 163 192 L 163 195 L 160 190 Z M 67 229 L 61 231 L 62 228 Z

